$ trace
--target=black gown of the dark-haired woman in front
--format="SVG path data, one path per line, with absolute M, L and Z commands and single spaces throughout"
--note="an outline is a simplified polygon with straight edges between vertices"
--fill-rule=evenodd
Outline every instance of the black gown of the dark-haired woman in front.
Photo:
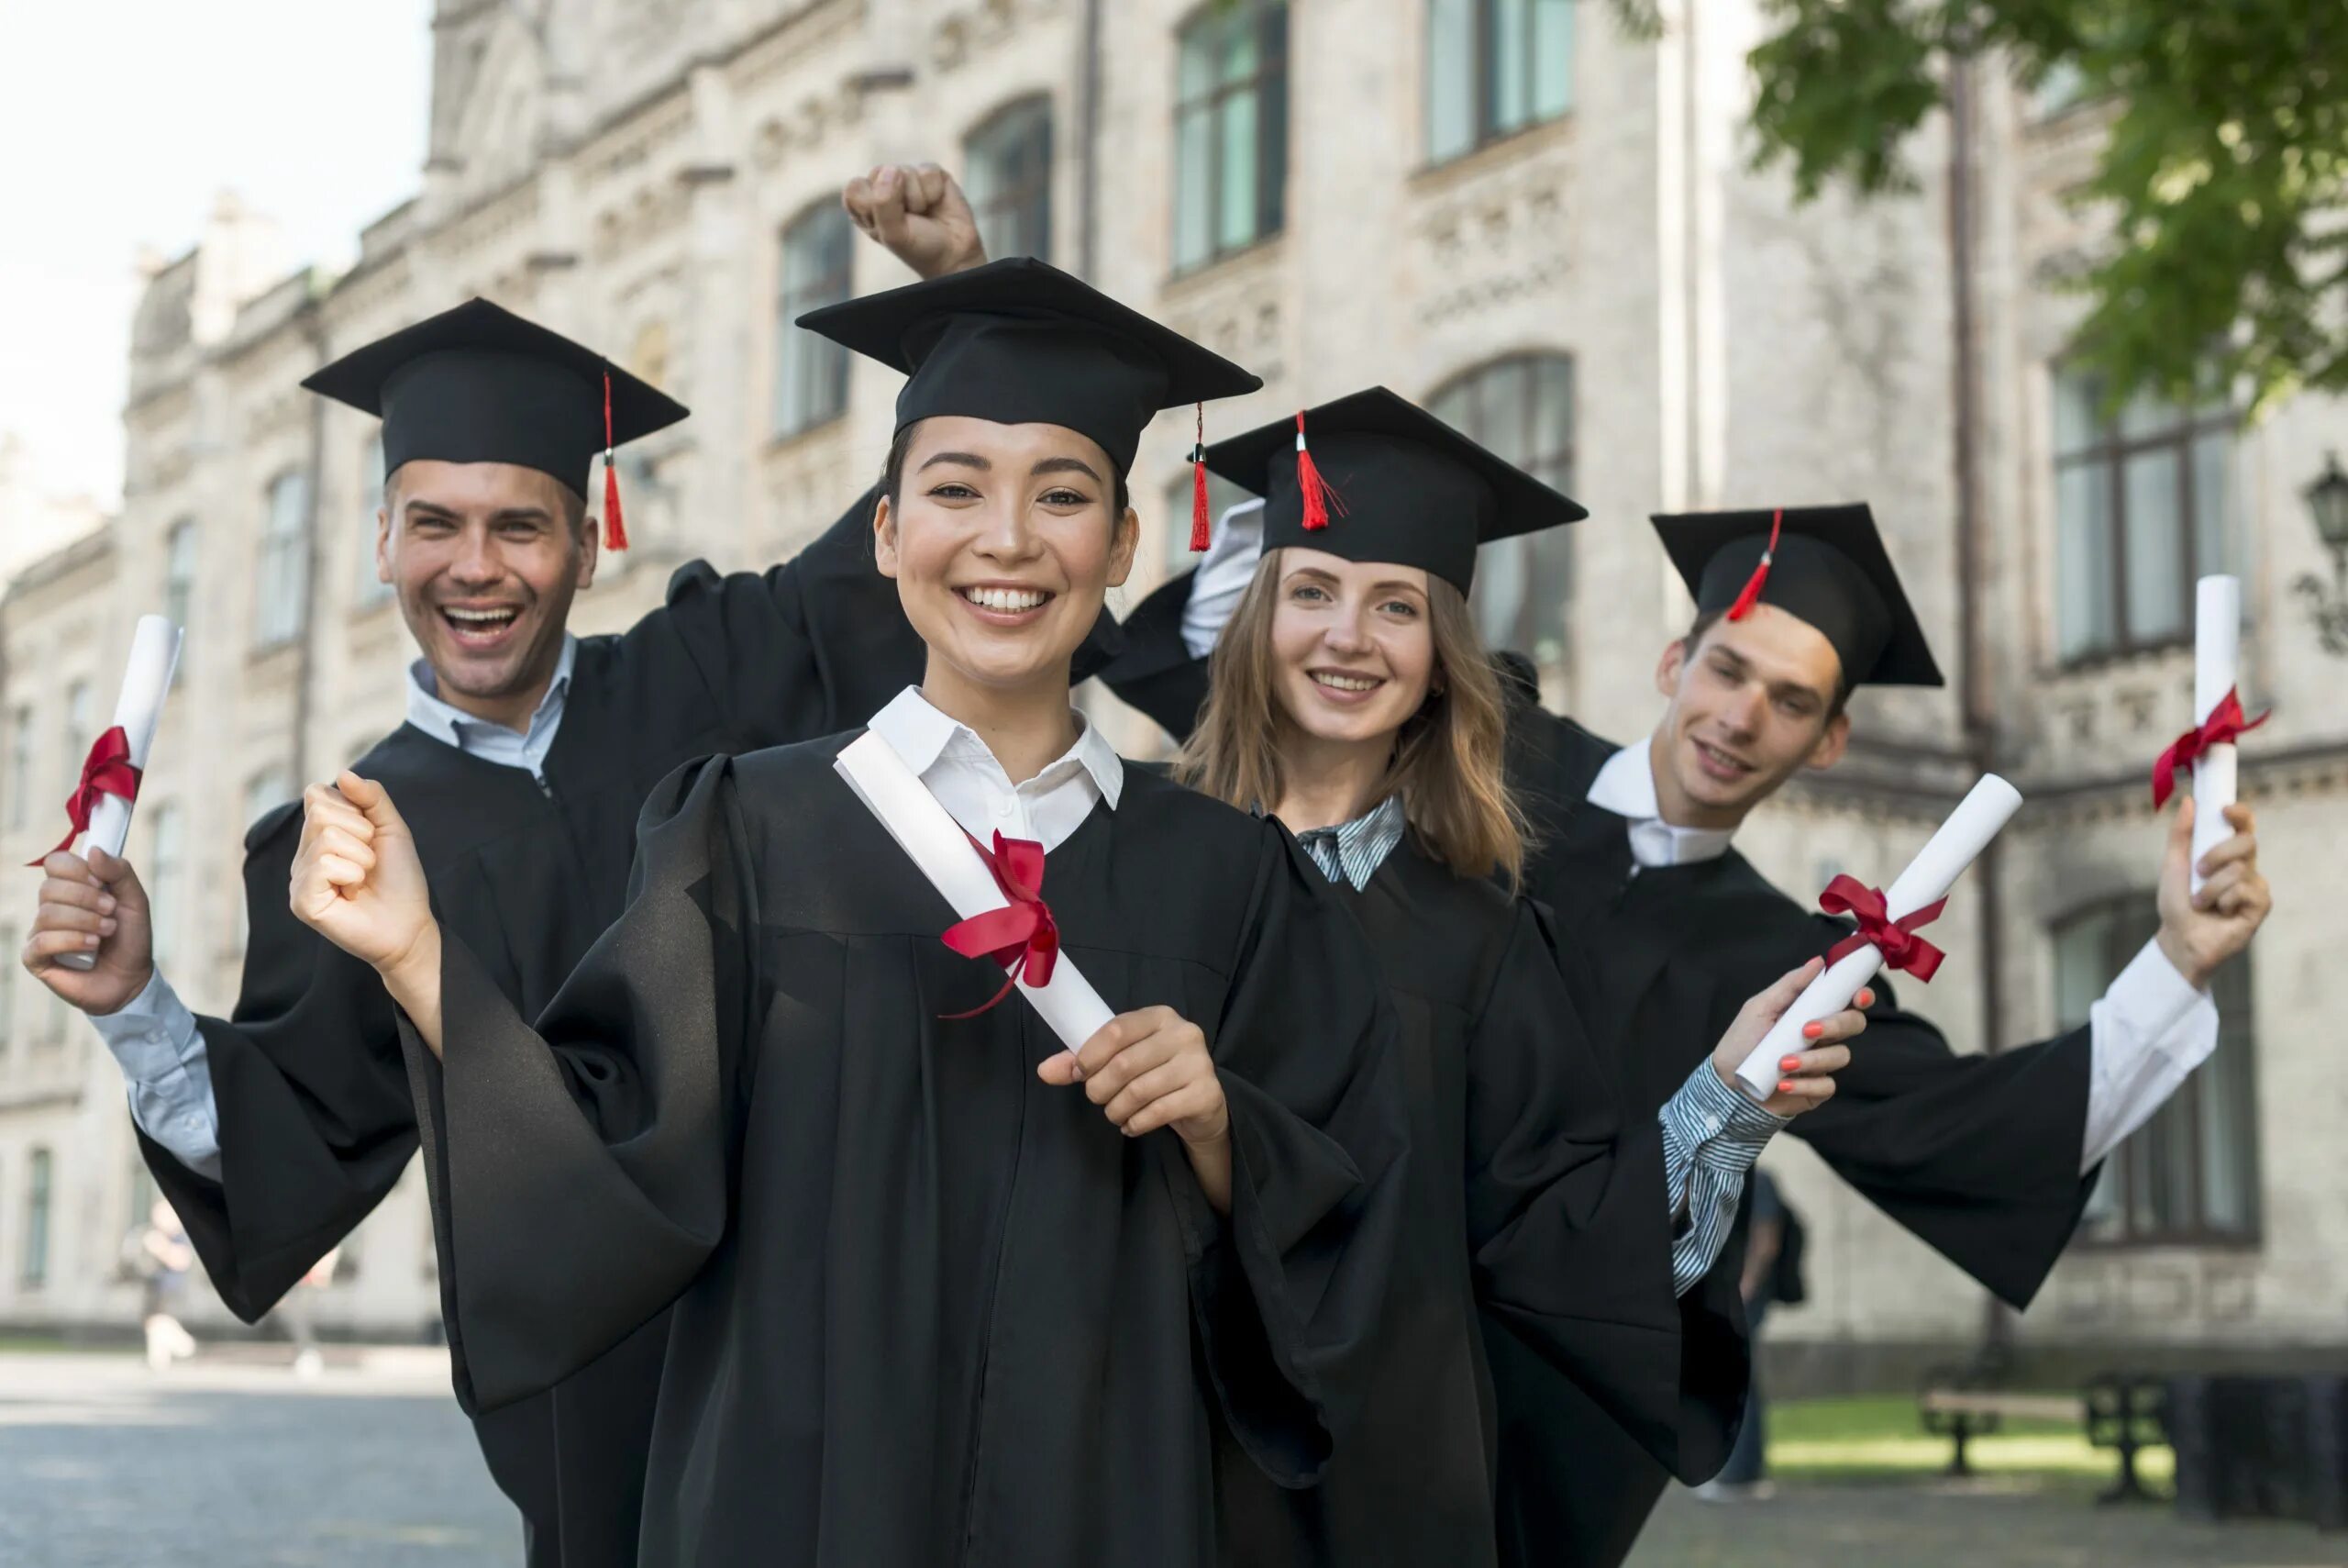
M 463 1380 L 495 1406 L 674 1303 L 641 1561 L 1197 1568 L 1212 1420 L 1320 1474 L 1399 1223 L 1392 1026 L 1277 826 L 1139 770 L 1045 861 L 1068 962 L 1167 1002 L 1230 1101 L 1233 1211 L 1125 1138 L 834 772 L 681 770 L 538 1026 L 451 932 L 409 1040 Z M 1212 869 L 1207 876 L 1202 869 Z

